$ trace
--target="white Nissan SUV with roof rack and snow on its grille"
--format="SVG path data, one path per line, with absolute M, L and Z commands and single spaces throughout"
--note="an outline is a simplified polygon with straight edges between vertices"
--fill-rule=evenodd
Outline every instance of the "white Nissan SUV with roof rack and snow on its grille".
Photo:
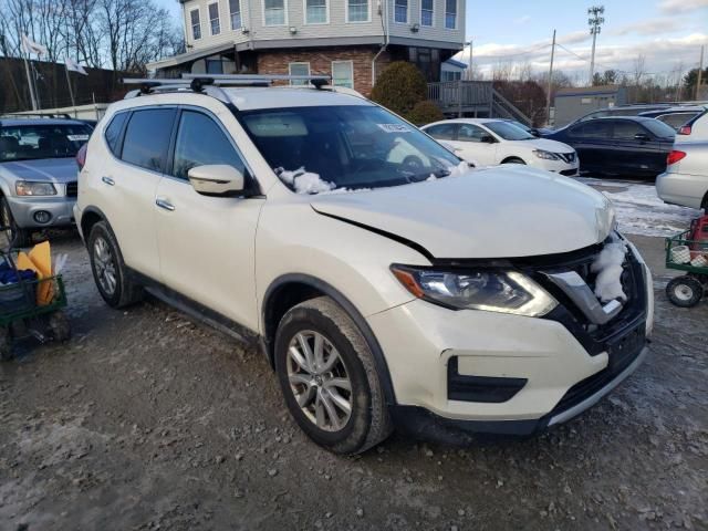
M 147 289 L 260 345 L 342 454 L 535 433 L 642 362 L 649 271 L 602 194 L 470 170 L 351 91 L 228 81 L 146 84 L 92 135 L 75 217 L 110 305 Z

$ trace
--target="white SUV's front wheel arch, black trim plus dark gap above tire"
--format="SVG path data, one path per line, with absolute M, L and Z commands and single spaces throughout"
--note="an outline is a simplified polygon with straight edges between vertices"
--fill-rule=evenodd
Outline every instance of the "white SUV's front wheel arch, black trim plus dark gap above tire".
M 302 273 L 290 273 L 277 278 L 266 290 L 261 306 L 263 351 L 271 367 L 274 366 L 274 337 L 282 316 L 296 304 L 316 296 L 329 296 L 336 302 L 354 321 L 366 340 L 376 363 L 386 403 L 396 403 L 391 373 L 384 353 L 371 326 L 354 304 L 336 288 L 316 277 Z

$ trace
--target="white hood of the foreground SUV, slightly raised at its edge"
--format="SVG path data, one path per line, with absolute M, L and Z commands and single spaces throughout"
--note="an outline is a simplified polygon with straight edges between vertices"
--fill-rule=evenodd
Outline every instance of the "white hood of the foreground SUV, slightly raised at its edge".
M 352 194 L 313 196 L 315 211 L 386 232 L 435 258 L 518 258 L 604 241 L 614 225 L 605 196 L 527 166 Z

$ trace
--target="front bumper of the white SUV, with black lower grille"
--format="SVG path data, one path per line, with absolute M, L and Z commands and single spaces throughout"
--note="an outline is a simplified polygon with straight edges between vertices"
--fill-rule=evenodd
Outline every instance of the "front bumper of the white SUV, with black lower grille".
M 419 300 L 369 316 L 392 374 L 396 424 L 447 441 L 454 434 L 530 435 L 597 403 L 643 362 L 652 332 L 650 273 L 626 243 L 624 304 L 602 305 L 587 285 L 598 252 L 592 249 L 563 263 L 520 267 L 559 301 L 542 319 L 456 312 Z M 573 290 L 552 280 L 569 272 L 594 304 L 579 304 Z

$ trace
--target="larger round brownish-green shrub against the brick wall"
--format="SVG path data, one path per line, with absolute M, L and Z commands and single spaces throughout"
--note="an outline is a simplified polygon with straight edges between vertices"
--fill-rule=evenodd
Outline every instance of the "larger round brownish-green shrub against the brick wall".
M 406 116 L 416 103 L 426 100 L 427 92 L 428 85 L 423 73 L 412 63 L 396 61 L 376 79 L 372 100 Z

